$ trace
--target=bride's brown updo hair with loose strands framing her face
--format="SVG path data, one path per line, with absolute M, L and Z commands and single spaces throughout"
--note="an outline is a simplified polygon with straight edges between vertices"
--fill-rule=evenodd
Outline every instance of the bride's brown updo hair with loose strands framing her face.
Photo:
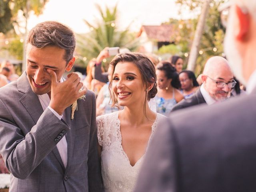
M 112 61 L 110 62 L 110 65 L 113 66 L 112 69 L 112 75 L 113 77 L 116 65 L 119 62 L 131 62 L 134 63 L 137 68 L 140 71 L 140 74 L 142 76 L 142 82 L 144 83 L 145 86 L 145 101 L 144 101 L 144 111 L 146 110 L 146 102 L 149 101 L 151 98 L 154 98 L 157 93 L 157 88 L 156 88 L 156 70 L 155 66 L 152 63 L 152 61 L 145 56 L 144 54 L 140 53 L 135 53 L 135 52 L 129 52 L 129 53 L 120 53 L 117 54 Z M 154 84 L 151 90 L 147 90 L 150 84 Z M 109 84 L 109 89 L 111 90 L 112 88 L 112 78 Z M 116 105 L 117 99 L 114 97 L 114 94 L 112 91 L 111 93 L 111 99 L 113 101 L 112 106 Z

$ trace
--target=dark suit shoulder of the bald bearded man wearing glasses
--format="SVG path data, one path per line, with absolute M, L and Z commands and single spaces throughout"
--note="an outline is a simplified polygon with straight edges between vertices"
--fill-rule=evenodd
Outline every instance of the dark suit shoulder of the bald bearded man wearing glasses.
M 183 99 L 181 102 L 177 103 L 173 108 L 172 111 L 176 111 L 182 108 L 187 108 L 190 106 L 198 105 L 205 103 L 204 97 L 202 96 L 202 93 L 200 91 L 200 88 L 196 90 L 195 94 L 193 94 L 190 98 Z

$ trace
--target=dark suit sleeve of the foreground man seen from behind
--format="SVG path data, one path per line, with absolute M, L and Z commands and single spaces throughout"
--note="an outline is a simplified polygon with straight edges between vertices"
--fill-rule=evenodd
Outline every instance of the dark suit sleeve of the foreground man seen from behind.
M 159 124 L 150 143 L 136 184 L 135 192 L 177 191 L 175 135 L 170 120 Z

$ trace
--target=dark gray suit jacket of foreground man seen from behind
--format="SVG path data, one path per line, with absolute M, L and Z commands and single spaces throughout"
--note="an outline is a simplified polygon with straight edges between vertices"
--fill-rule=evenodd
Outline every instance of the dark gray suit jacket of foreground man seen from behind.
M 156 130 L 135 192 L 254 192 L 255 102 L 256 90 L 172 113 Z

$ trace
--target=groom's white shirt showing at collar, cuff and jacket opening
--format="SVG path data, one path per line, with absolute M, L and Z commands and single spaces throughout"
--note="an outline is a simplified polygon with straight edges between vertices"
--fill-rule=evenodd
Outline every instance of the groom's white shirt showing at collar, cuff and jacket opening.
M 61 78 L 60 82 L 63 82 L 63 79 Z M 48 94 L 43 94 L 43 95 L 37 95 L 40 103 L 42 105 L 43 110 L 46 110 L 46 108 L 48 107 L 52 113 L 59 118 L 59 120 L 61 120 L 62 115 L 59 115 L 54 109 L 52 109 L 49 104 L 50 104 L 50 98 L 48 96 Z M 67 162 L 68 162 L 68 143 L 66 140 L 66 136 L 62 137 L 62 139 L 57 143 L 57 148 L 62 160 L 62 163 L 64 165 L 64 167 L 66 168 L 67 166 Z

